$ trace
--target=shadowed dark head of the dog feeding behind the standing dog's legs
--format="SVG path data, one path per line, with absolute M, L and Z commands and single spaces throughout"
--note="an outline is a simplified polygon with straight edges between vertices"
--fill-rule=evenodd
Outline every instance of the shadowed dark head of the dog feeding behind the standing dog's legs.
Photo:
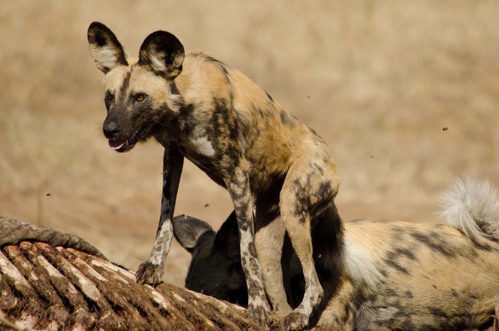
M 192 254 L 186 288 L 232 303 L 248 304 L 235 212 L 217 233 L 202 220 L 177 216 L 173 219 L 173 233 Z

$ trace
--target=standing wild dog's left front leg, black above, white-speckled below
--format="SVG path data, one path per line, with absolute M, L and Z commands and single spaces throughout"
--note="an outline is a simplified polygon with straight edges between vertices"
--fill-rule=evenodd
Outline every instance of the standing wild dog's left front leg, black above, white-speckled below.
M 138 283 L 157 285 L 161 282 L 161 276 L 165 269 L 165 259 L 170 251 L 170 243 L 173 237 L 172 219 L 183 165 L 184 156 L 177 149 L 165 149 L 161 215 L 158 231 L 156 232 L 156 241 L 149 258 L 137 270 Z

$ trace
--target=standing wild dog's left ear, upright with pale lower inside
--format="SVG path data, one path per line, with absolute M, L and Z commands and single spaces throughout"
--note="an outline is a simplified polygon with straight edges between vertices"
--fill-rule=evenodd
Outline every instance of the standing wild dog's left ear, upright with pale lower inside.
M 125 51 L 114 33 L 104 24 L 92 22 L 87 31 L 88 48 L 98 69 L 103 73 L 118 65 L 128 65 Z

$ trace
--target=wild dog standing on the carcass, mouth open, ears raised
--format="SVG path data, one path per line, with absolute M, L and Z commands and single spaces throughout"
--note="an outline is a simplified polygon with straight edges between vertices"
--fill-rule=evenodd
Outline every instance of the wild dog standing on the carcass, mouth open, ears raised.
M 138 61 L 126 58 L 116 36 L 101 23 L 90 25 L 88 42 L 97 67 L 106 74 L 103 131 L 109 146 L 126 152 L 154 137 L 165 148 L 156 242 L 139 266 L 137 280 L 160 282 L 187 158 L 227 188 L 233 200 L 249 316 L 261 324 L 269 322 L 265 284 L 274 310 L 287 315 L 284 327 L 306 326 L 323 297 L 312 259 L 310 222 L 334 208 L 339 187 L 324 141 L 238 70 L 202 53 L 184 54 L 180 41 L 169 32 L 151 33 L 142 43 Z M 305 294 L 292 314 L 283 299 L 280 268 L 267 263 L 282 242 L 255 245 L 253 201 L 257 236 L 271 231 L 268 224 L 280 214 L 300 260 Z

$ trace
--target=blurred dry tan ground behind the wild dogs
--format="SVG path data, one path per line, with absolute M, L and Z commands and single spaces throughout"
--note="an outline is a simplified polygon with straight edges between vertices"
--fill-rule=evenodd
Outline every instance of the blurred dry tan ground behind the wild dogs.
M 174 33 L 246 73 L 328 142 L 344 219 L 441 222 L 456 177 L 499 186 L 499 1 L 3 1 L 0 214 L 77 234 L 136 269 L 149 255 L 162 148 L 112 151 L 86 30 L 137 56 Z M 444 131 L 443 128 L 448 128 Z M 229 194 L 186 161 L 176 214 L 216 229 Z M 164 280 L 182 285 L 175 242 Z

